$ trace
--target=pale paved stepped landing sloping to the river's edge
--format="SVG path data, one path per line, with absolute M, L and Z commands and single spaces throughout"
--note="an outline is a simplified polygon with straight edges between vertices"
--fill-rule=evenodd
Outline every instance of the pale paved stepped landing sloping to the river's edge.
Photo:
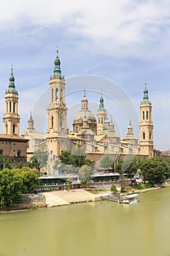
M 45 204 L 47 207 L 54 206 L 66 206 L 71 203 L 84 203 L 84 202 L 94 202 L 102 200 L 101 195 L 93 195 L 92 193 L 86 191 L 85 189 L 70 189 L 43 192 L 45 195 Z M 104 193 L 106 195 L 109 193 Z

